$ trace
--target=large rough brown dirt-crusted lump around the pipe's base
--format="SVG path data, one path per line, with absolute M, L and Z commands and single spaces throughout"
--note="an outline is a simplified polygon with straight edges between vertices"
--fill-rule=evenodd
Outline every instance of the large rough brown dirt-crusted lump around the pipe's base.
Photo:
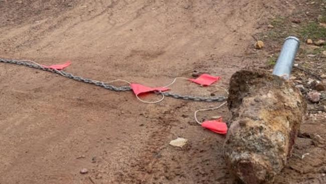
M 290 82 L 263 71 L 236 72 L 229 93 L 227 165 L 241 183 L 270 182 L 290 155 L 306 111 L 304 98 Z

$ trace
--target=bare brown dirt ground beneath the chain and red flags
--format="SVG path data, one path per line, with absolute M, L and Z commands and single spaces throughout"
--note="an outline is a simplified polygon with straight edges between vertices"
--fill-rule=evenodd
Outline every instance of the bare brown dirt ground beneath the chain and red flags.
M 252 35 L 305 2 L 0 0 L 0 57 L 47 65 L 71 60 L 65 70 L 77 75 L 150 86 L 197 70 L 221 76 L 219 85 L 227 88 L 235 71 L 265 64 L 255 57 Z M 130 91 L 3 63 L 0 81 L 1 184 L 232 183 L 222 157 L 225 137 L 193 118 L 195 110 L 219 103 L 166 98 L 143 104 Z M 225 95 L 182 80 L 171 88 Z M 227 121 L 230 113 L 224 106 L 199 116 Z M 275 183 L 326 182 L 325 147 L 310 136 L 326 137 L 325 119 L 307 116 Z M 177 137 L 189 145 L 170 146 Z M 80 174 L 82 168 L 89 172 Z

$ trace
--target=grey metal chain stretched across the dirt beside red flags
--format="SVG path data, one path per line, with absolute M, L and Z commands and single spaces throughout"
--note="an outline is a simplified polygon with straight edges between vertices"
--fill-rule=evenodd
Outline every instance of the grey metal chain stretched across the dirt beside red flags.
M 10 63 L 10 64 L 18 64 L 18 65 L 23 65 L 23 66 L 28 66 L 31 68 L 36 68 L 36 69 L 41 69 L 44 71 L 50 71 L 53 73 L 58 73 L 60 75 L 63 75 L 67 78 L 71 78 L 74 80 L 78 80 L 78 81 L 82 81 L 85 83 L 90 83 L 90 84 L 94 84 L 100 87 L 103 87 L 105 89 L 109 89 L 109 90 L 114 90 L 114 91 L 130 91 L 132 90 L 130 86 L 120 86 L 120 87 L 116 87 L 114 85 L 110 85 L 107 84 L 105 82 L 102 81 L 97 81 L 97 80 L 93 80 L 93 79 L 89 79 L 89 78 L 83 78 L 81 76 L 75 76 L 72 73 L 68 73 L 65 71 L 59 71 L 56 69 L 50 69 L 50 68 L 46 68 L 42 65 L 37 65 L 37 64 L 33 64 L 33 63 L 29 63 L 29 62 L 25 62 L 25 61 L 19 61 L 19 60 L 13 60 L 13 59 L 2 59 L 0 58 L 0 62 L 3 63 Z M 179 95 L 179 94 L 173 94 L 170 92 L 161 92 L 161 91 L 155 91 L 154 94 L 162 94 L 164 96 L 167 97 L 172 97 L 175 99 L 183 99 L 183 100 L 192 100 L 192 101 L 198 101 L 198 102 L 224 102 L 226 101 L 226 97 L 223 96 L 219 96 L 219 97 L 194 97 L 194 96 L 183 96 L 183 95 Z

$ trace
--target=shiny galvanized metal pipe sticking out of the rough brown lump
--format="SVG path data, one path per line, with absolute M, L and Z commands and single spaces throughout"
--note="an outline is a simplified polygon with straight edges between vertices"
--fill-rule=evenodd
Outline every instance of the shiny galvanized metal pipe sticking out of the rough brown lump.
M 298 38 L 290 36 L 285 39 L 281 53 L 278 56 L 273 75 L 289 79 L 292 71 L 295 55 L 299 49 L 300 41 Z

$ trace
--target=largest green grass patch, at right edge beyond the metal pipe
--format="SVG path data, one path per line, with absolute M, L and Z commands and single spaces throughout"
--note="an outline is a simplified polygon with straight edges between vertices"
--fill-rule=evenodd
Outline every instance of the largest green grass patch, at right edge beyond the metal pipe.
M 302 38 L 310 38 L 310 39 L 326 38 L 326 28 L 319 26 L 319 24 L 316 22 L 312 22 L 303 26 L 299 30 L 299 33 Z

